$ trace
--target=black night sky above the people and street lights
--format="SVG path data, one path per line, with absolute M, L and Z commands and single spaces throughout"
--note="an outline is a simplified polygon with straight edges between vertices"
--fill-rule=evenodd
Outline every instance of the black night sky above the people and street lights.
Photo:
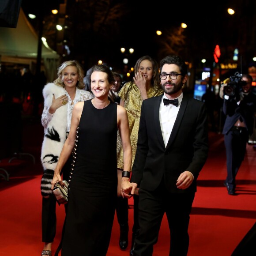
M 58 9 L 61 2 L 63 3 L 64 0 L 44 0 L 45 10 L 54 7 Z M 68 3 L 72 2 L 75 0 L 68 0 Z M 90 1 L 87 2 L 90 3 Z M 163 45 L 173 40 L 173 38 L 166 38 L 166 34 L 177 36 L 177 28 L 182 22 L 188 25 L 183 31 L 184 45 L 182 49 L 174 47 L 174 52 L 181 54 L 188 61 L 190 58 L 193 60 L 212 59 L 217 44 L 220 45 L 223 58 L 232 58 L 229 56 L 232 50 L 229 49 L 230 45 L 233 48 L 246 47 L 244 51 L 255 48 L 248 46 L 248 44 L 255 45 L 253 38 L 250 38 L 250 34 L 253 34 L 255 29 L 251 29 L 248 33 L 245 31 L 248 27 L 252 27 L 250 26 L 251 23 L 254 22 L 255 24 L 256 22 L 254 0 L 215 0 L 207 3 L 205 1 L 189 1 L 188 3 L 184 1 L 168 1 L 167 3 L 166 1 L 156 1 L 154 4 L 140 0 L 114 0 L 112 2 L 114 4 L 118 2 L 126 4 L 125 11 L 127 13 L 121 15 L 118 20 L 117 32 L 115 33 L 113 29 L 113 35 L 109 34 L 110 40 L 103 37 L 95 38 L 95 36 L 88 40 L 85 34 L 79 35 L 75 39 L 76 47 L 74 50 L 79 49 L 80 56 L 83 55 L 84 48 L 89 47 L 87 52 L 89 51 L 91 55 L 94 55 L 95 59 L 103 56 L 106 61 L 114 63 L 114 60 L 120 61 L 119 59 L 122 57 L 119 53 L 121 47 L 127 49 L 132 47 L 135 52 L 129 57 L 133 63 L 140 56 L 146 54 L 159 61 L 163 56 L 166 56 L 166 53 L 162 52 Z M 39 2 L 34 0 L 23 0 L 22 8 L 25 13 L 37 12 L 38 4 Z M 235 9 L 236 14 L 228 15 L 228 7 Z M 156 30 L 162 30 L 163 34 L 157 36 Z M 90 44 L 87 42 L 93 40 L 95 42 L 88 46 Z M 99 42 L 101 44 L 98 44 Z M 80 57 L 79 53 L 76 53 L 75 56 Z M 85 58 L 88 57 L 86 54 L 84 56 Z

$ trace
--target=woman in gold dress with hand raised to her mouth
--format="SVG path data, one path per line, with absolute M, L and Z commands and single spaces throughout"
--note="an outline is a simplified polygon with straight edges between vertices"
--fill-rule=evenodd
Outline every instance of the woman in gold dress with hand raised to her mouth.
M 133 78 L 134 82 L 127 82 L 124 84 L 118 96 L 120 96 L 120 105 L 124 106 L 128 113 L 129 128 L 130 128 L 130 139 L 132 145 L 132 165 L 135 158 L 138 132 L 139 132 L 139 118 L 141 113 L 141 104 L 144 99 L 151 98 L 163 94 L 162 88 L 160 86 L 158 64 L 151 58 L 151 56 L 143 56 L 137 60 L 135 64 L 135 76 Z M 123 163 L 123 150 L 120 141 L 120 136 L 117 137 L 117 173 L 119 176 L 122 175 L 124 169 Z M 134 224 L 132 228 L 132 247 L 130 250 L 130 255 L 133 255 L 134 250 L 134 238 L 139 231 L 138 223 L 138 196 L 134 196 Z M 128 199 L 126 208 L 124 211 L 127 213 L 128 219 Z M 122 216 L 125 216 L 122 214 Z M 128 237 L 128 223 L 127 226 L 120 227 L 120 234 L 123 233 L 124 237 Z M 128 244 L 128 238 L 127 238 Z

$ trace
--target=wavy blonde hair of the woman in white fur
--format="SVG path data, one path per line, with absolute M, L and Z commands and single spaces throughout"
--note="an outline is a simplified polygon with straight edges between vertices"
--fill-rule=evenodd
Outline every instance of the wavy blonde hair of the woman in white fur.
M 83 77 L 84 77 L 84 71 L 83 68 L 81 67 L 81 65 L 78 63 L 78 61 L 76 60 L 68 60 L 68 61 L 64 61 L 62 64 L 60 64 L 59 68 L 58 68 L 58 78 L 56 80 L 53 81 L 53 83 L 55 83 L 58 86 L 61 87 L 65 87 L 63 80 L 62 80 L 62 72 L 65 68 L 67 68 L 68 66 L 74 66 L 77 69 L 77 73 L 78 73 L 78 82 L 76 84 L 76 87 L 78 89 L 84 89 L 85 85 L 83 83 Z

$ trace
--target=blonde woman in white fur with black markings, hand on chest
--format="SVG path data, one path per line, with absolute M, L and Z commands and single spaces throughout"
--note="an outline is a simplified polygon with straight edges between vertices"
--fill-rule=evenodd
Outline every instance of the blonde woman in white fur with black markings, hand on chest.
M 51 190 L 54 169 L 70 130 L 72 110 L 77 102 L 93 98 L 83 90 L 84 72 L 75 60 L 63 62 L 58 68 L 58 78 L 43 89 L 44 109 L 41 123 L 45 128 L 41 148 L 44 173 L 41 179 L 43 256 L 52 256 L 52 243 L 56 234 L 56 199 Z M 71 158 L 62 169 L 63 180 L 68 180 Z M 66 210 L 65 205 L 65 210 Z

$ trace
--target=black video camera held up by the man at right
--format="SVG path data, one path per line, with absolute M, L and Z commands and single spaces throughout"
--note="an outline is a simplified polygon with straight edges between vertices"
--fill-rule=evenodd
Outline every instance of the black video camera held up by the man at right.
M 230 82 L 223 87 L 224 95 L 230 96 L 229 98 L 235 98 L 237 101 L 240 99 L 240 92 L 242 86 L 246 85 L 246 82 L 242 80 L 242 74 L 235 72 L 230 76 Z

